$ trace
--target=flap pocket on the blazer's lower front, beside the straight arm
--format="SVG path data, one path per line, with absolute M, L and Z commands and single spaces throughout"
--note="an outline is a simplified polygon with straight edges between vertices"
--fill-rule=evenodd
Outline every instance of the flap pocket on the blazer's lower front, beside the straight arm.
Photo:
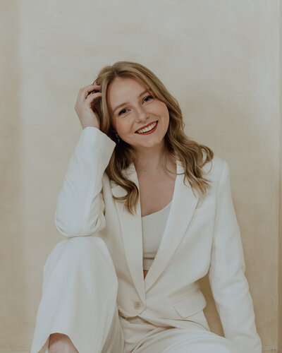
M 187 318 L 198 311 L 204 309 L 207 301 L 204 298 L 204 294 L 200 288 L 195 289 L 192 293 L 189 293 L 184 299 L 178 300 L 173 303 L 174 309 L 182 318 Z

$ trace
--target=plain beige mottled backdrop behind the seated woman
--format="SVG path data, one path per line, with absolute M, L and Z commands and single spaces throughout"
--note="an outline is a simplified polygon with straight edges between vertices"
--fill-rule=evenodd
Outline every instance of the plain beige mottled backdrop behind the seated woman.
M 151 68 L 178 99 L 188 136 L 228 162 L 257 330 L 264 350 L 278 352 L 279 1 L 0 6 L 0 352 L 30 350 L 43 266 L 64 239 L 54 213 L 82 131 L 73 109 L 78 90 L 118 60 Z M 207 278 L 200 284 L 209 324 L 222 334 Z

